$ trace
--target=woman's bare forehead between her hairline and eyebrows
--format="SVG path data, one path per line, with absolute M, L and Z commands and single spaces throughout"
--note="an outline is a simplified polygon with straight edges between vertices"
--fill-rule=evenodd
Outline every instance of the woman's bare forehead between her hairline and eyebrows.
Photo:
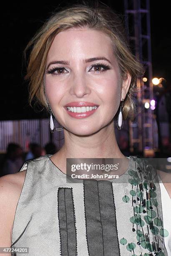
M 84 58 L 106 55 L 112 59 L 111 38 L 102 31 L 90 28 L 69 28 L 58 33 L 48 52 L 48 59 L 58 57 Z

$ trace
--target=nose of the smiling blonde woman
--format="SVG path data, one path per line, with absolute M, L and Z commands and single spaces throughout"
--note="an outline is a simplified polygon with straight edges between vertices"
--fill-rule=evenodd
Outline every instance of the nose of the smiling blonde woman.
M 82 98 L 86 94 L 91 93 L 90 81 L 86 78 L 83 73 L 74 75 L 73 79 L 70 80 L 70 94 Z

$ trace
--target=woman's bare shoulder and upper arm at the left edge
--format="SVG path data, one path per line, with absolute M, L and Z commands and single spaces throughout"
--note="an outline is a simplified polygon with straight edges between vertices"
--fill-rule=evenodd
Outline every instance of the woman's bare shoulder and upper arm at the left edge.
M 26 170 L 0 177 L 0 247 L 11 246 L 15 210 Z

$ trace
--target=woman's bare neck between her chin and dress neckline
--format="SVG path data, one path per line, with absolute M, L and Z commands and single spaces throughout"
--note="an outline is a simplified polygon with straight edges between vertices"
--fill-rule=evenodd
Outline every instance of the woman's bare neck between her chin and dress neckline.
M 124 166 L 128 165 L 129 160 L 118 147 L 113 123 L 89 136 L 77 136 L 67 130 L 64 130 L 64 136 L 62 148 L 50 157 L 63 172 L 66 170 L 66 158 L 123 158 Z

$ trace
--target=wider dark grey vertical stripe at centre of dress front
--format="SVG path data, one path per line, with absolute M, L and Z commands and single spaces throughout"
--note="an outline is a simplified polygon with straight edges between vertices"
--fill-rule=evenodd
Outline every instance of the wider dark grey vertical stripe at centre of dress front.
M 120 255 L 112 183 L 85 179 L 84 200 L 90 256 Z

